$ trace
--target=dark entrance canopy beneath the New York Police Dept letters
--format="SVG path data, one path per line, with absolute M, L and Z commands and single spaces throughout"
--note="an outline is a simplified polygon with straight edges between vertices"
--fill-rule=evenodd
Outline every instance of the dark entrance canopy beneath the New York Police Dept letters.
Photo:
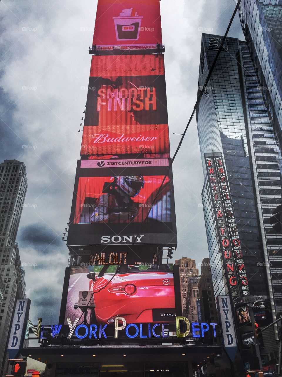
M 52 375 L 56 369 L 60 376 L 75 375 L 105 376 L 177 376 L 186 377 L 214 357 L 221 354 L 219 346 L 50 346 L 24 348 L 24 356 L 50 366 Z M 90 368 L 90 369 L 89 369 Z M 68 372 L 67 372 L 68 371 Z M 89 373 L 88 373 L 89 372 Z M 67 374 L 68 373 L 68 374 Z

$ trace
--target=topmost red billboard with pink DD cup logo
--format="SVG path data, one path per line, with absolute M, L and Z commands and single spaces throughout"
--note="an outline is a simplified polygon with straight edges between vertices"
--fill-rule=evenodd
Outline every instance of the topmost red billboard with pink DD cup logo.
M 159 0 L 99 0 L 93 46 L 150 48 L 162 43 Z

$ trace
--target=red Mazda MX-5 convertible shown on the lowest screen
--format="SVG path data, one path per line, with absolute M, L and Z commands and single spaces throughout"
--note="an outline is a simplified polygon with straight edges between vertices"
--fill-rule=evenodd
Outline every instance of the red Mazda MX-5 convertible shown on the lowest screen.
M 95 273 L 87 277 L 91 279 L 89 290 L 98 323 L 112 323 L 115 317 L 123 317 L 127 323 L 175 320 L 173 272 L 168 264 L 145 269 L 138 265 L 105 266 L 97 277 Z

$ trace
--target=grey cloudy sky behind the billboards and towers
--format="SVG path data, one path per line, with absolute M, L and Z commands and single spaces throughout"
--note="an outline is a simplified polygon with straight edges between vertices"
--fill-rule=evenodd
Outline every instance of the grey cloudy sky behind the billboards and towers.
M 58 320 L 68 250 L 78 133 L 88 86 L 97 0 L 2 0 L 0 161 L 27 167 L 28 190 L 17 242 L 30 319 Z M 233 0 L 161 1 L 171 153 L 197 96 L 202 31 L 224 34 Z M 229 33 L 244 39 L 238 16 Z M 27 146 L 24 148 L 23 146 Z M 201 208 L 203 171 L 194 119 L 173 167 L 178 247 L 175 259 L 208 256 Z M 47 308 L 47 310 L 46 310 Z

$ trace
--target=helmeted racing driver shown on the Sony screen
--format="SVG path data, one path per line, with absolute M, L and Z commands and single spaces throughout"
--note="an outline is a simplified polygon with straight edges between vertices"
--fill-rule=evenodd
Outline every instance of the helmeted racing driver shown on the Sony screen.
M 135 198 L 144 187 L 143 176 L 114 177 L 105 184 L 103 194 L 91 215 L 91 222 L 130 222 L 138 214 Z

